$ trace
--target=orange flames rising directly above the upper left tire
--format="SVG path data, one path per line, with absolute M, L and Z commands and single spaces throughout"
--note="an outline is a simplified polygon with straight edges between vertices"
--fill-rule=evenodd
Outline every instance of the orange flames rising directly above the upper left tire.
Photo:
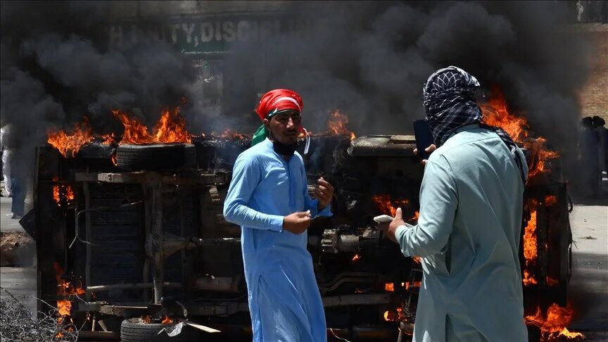
M 174 110 L 163 110 L 160 119 L 156 122 L 152 133 L 148 132 L 148 127 L 135 118 L 118 109 L 112 110 L 125 132 L 122 134 L 120 144 L 170 144 L 170 143 L 189 143 L 191 136 L 186 131 L 186 121 L 179 113 L 179 107 Z

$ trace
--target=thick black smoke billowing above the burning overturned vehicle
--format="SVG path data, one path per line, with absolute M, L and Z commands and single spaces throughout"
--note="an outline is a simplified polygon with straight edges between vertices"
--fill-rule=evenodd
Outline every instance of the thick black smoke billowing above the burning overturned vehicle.
M 498 84 L 509 106 L 555 148 L 576 146 L 577 92 L 590 49 L 565 29 L 576 18 L 574 1 L 285 1 L 275 16 L 315 25 L 232 44 L 222 58 L 208 58 L 215 81 L 222 78 L 221 94 L 201 87 L 193 59 L 166 40 L 108 45 L 102 28 L 117 20 L 110 15 L 116 4 L 2 2 L 0 110 L 1 124 L 18 132 L 11 144 L 42 144 L 48 129 L 71 127 L 84 115 L 96 132 L 120 134 L 110 108 L 151 125 L 161 106 L 181 96 L 189 99 L 191 132 L 253 132 L 258 96 L 274 87 L 302 94 L 305 125 L 314 132 L 340 108 L 357 134 L 408 134 L 412 119 L 424 114 L 426 78 L 457 65 L 486 89 Z M 250 6 L 255 12 L 266 5 Z

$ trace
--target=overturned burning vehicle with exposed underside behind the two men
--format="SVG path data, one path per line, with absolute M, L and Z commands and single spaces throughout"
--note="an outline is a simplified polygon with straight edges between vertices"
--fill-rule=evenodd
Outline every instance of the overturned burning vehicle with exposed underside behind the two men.
M 520 260 L 530 338 L 576 338 L 566 329 L 571 203 L 559 153 L 528 136 L 502 96 L 482 109 L 528 159 Z M 179 322 L 204 327 L 169 341 L 196 341 L 208 327 L 251 334 L 240 227 L 222 216 L 232 165 L 250 138 L 193 136 L 179 108 L 163 111 L 151 132 L 113 115 L 125 127 L 120 139 L 94 135 L 85 121 L 49 132 L 49 145 L 37 148 L 34 210 L 22 222 L 37 240 L 39 298 L 58 305 L 58 324 L 83 327 L 82 338 L 165 341 L 160 329 L 179 332 Z M 424 166 L 412 136 L 355 137 L 347 123 L 334 111 L 327 132 L 310 134 L 309 153 L 306 139 L 298 148 L 309 184 L 323 175 L 336 189 L 334 217 L 308 229 L 328 334 L 403 338 L 413 331 L 421 260 L 383 239 L 373 217 L 400 207 L 415 224 Z

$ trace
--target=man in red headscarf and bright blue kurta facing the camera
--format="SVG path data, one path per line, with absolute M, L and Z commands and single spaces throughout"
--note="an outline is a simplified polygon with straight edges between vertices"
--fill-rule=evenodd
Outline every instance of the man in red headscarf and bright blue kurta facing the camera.
M 236 158 L 224 217 L 241 225 L 253 341 L 327 341 L 325 313 L 306 229 L 331 216 L 334 188 L 317 180 L 310 198 L 296 152 L 303 101 L 289 89 L 262 96 L 263 125 Z

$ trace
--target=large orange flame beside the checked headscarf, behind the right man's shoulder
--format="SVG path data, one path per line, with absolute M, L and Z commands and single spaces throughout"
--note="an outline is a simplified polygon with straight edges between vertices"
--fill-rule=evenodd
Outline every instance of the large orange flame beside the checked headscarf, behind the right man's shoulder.
M 515 142 L 523 144 L 530 151 L 528 178 L 550 171 L 545 168 L 545 163 L 551 158 L 559 157 L 559 153 L 545 147 L 545 138 L 528 137 L 528 121 L 509 113 L 507 99 L 498 87 L 494 87 L 488 103 L 481 104 L 480 108 L 483 112 L 483 123 L 501 127 Z

